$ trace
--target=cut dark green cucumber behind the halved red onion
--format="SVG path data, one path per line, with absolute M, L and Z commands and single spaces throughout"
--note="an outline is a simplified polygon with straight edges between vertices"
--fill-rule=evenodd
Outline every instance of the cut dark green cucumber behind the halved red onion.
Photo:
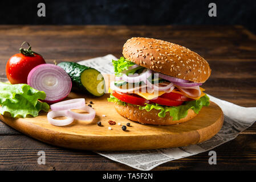
M 105 93 L 104 77 L 96 69 L 73 62 L 62 62 L 58 66 L 71 77 L 73 92 L 88 92 L 94 96 Z

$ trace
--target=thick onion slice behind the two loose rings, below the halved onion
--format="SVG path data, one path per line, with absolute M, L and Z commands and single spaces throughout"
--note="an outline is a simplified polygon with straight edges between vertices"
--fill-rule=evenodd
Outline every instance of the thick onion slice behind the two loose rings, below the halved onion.
M 84 98 L 75 98 L 67 101 L 58 102 L 51 105 L 51 110 L 70 110 L 78 109 L 86 105 Z

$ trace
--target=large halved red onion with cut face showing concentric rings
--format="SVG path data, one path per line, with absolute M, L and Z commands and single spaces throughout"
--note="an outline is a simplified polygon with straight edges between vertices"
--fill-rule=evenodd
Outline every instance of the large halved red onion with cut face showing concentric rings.
M 54 64 L 41 64 L 33 68 L 27 77 L 27 84 L 46 93 L 45 102 L 63 100 L 71 91 L 72 82 L 64 69 Z

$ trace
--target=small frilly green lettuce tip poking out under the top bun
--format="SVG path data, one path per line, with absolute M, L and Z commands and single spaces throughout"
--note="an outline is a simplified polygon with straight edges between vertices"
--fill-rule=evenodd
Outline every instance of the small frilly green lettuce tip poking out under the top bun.
M 120 57 L 120 59 L 117 61 L 112 60 L 112 64 L 113 64 L 116 76 L 123 75 L 123 73 L 121 72 L 128 70 L 129 67 L 131 67 L 132 65 L 135 65 L 135 63 L 132 63 L 131 61 L 125 59 L 124 57 Z

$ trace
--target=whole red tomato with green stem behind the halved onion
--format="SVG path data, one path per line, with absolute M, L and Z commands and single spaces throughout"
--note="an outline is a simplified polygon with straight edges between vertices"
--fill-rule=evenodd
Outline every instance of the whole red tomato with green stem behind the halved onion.
M 31 51 L 30 45 L 28 49 L 20 48 L 19 51 L 20 53 L 11 56 L 6 64 L 6 76 L 11 84 L 27 84 L 31 69 L 46 63 L 41 55 Z

